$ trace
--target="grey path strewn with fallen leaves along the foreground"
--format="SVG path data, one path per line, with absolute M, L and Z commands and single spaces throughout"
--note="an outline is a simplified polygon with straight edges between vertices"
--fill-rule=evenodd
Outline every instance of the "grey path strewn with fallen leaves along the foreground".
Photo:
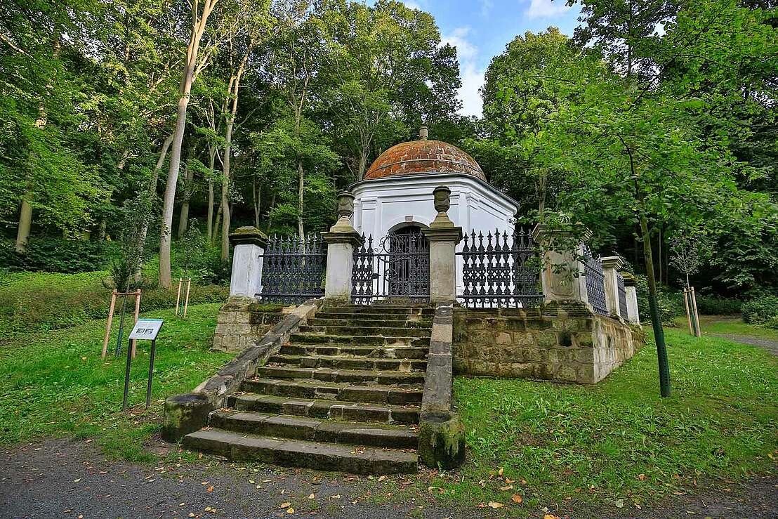
M 180 467 L 108 461 L 98 447 L 44 440 L 2 452 L 0 517 L 506 517 L 520 510 L 447 507 L 401 489 L 402 479 L 375 479 L 280 468 L 244 468 L 208 458 Z M 314 479 L 316 478 L 316 479 Z M 260 488 L 258 488 L 260 487 Z M 724 488 L 723 488 L 724 487 Z M 394 499 L 386 494 L 394 493 Z M 313 497 L 310 498 L 310 495 Z M 398 496 L 401 496 L 398 498 Z M 289 503 L 289 504 L 286 504 Z M 285 505 L 282 507 L 282 505 Z M 293 511 L 290 513 L 289 509 Z M 215 510 L 214 510 L 215 509 Z M 660 507 L 557 509 L 558 517 L 778 517 L 778 477 L 722 484 Z M 523 509 L 521 516 L 543 517 Z

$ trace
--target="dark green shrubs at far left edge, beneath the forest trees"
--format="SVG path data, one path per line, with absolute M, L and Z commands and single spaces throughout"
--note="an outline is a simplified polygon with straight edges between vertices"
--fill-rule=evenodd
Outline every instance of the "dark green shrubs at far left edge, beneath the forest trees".
M 110 260 L 107 241 L 30 238 L 24 254 L 14 250 L 13 240 L 0 241 L 0 268 L 8 272 L 93 272 Z

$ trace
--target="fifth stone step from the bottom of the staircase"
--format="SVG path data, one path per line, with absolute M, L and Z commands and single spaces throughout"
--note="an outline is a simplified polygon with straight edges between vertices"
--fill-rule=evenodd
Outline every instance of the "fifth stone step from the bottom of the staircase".
M 260 366 L 259 377 L 300 378 L 324 380 L 325 382 L 350 382 L 368 384 L 424 384 L 425 373 L 403 373 L 402 371 L 331 370 L 330 368 Z

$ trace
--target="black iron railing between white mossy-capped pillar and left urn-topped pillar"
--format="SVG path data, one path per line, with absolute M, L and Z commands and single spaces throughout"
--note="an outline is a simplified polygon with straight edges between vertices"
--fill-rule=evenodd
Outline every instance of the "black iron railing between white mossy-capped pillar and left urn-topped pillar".
M 327 249 L 316 234 L 268 239 L 262 258 L 263 303 L 300 304 L 324 296 Z

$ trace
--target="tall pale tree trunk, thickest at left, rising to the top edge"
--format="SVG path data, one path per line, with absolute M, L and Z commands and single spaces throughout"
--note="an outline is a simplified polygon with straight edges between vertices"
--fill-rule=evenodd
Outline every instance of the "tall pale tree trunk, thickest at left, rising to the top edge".
M 192 82 L 195 78 L 200 50 L 200 40 L 205 32 L 205 24 L 218 0 L 204 0 L 202 16 L 200 16 L 198 0 L 191 2 L 192 29 L 187 46 L 187 57 L 184 61 L 184 72 L 181 74 L 179 98 L 176 114 L 176 131 L 173 133 L 173 148 L 170 151 L 170 167 L 167 170 L 167 184 L 162 209 L 162 226 L 159 237 L 159 286 L 170 288 L 170 229 L 173 226 L 173 203 L 176 198 L 178 168 L 181 162 L 181 143 L 184 141 L 184 129 L 187 124 L 187 107 L 191 95 Z

